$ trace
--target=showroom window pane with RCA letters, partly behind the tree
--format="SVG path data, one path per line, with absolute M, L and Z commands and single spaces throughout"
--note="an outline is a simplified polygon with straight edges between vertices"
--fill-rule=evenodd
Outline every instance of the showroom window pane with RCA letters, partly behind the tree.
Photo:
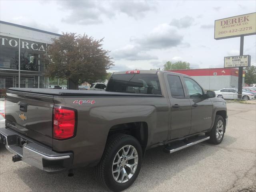
M 42 71 L 40 57 L 46 54 L 46 44 L 20 39 L 20 70 Z

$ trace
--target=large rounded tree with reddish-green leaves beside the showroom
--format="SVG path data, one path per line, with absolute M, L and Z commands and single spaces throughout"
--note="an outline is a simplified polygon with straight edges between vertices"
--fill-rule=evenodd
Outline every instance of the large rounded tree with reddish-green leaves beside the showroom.
M 48 48 L 44 59 L 46 76 L 72 80 L 76 88 L 82 82 L 102 79 L 114 65 L 102 42 L 103 39 L 94 40 L 85 34 L 62 33 Z

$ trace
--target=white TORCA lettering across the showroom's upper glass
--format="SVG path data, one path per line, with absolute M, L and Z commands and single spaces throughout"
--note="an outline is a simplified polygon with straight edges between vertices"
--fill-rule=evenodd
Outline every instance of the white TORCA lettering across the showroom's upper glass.
M 3 37 L 0 37 L 0 44 L 2 46 L 5 46 L 7 44 L 9 44 L 11 47 L 18 46 L 18 42 L 15 39 L 8 39 L 8 38 L 3 38 Z M 38 44 L 35 42 L 29 44 L 28 42 L 22 40 L 21 44 L 22 44 L 21 48 L 23 48 L 23 49 L 32 49 L 35 51 L 46 51 L 44 48 L 44 45 Z

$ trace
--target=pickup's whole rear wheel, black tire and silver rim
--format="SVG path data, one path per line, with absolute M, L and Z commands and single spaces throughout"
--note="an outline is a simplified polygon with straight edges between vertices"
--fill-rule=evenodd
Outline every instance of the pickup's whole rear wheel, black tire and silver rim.
M 136 138 L 126 134 L 110 136 L 96 178 L 113 191 L 122 191 L 136 180 L 142 164 L 142 148 Z

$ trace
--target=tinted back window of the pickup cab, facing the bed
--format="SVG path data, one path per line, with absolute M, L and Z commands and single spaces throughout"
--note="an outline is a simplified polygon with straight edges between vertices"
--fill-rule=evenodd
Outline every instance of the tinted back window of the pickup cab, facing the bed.
M 112 75 L 106 91 L 162 94 L 160 83 L 156 74 L 118 74 Z

